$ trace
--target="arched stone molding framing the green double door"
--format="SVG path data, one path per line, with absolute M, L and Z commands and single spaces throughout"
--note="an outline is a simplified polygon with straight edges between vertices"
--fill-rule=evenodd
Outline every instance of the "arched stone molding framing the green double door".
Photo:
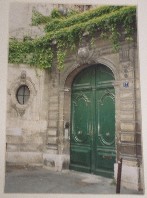
M 69 154 L 69 139 L 65 139 L 65 125 L 70 123 L 70 111 L 71 111 L 71 86 L 75 76 L 82 71 L 84 68 L 90 67 L 91 65 L 103 64 L 111 69 L 114 74 L 115 82 L 115 100 L 116 100 L 116 147 L 118 141 L 118 126 L 119 126 L 119 66 L 116 66 L 112 61 L 104 57 L 97 57 L 91 64 L 75 64 L 72 67 L 68 67 L 64 74 L 60 78 L 60 108 L 59 108 L 59 136 L 62 139 L 62 151 L 60 153 Z M 70 134 L 70 129 L 69 129 Z

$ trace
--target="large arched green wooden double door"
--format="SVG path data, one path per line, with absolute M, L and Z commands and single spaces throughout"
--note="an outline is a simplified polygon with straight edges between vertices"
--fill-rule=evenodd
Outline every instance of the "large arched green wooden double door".
M 84 69 L 72 85 L 70 169 L 113 176 L 115 99 L 112 71 L 104 65 Z

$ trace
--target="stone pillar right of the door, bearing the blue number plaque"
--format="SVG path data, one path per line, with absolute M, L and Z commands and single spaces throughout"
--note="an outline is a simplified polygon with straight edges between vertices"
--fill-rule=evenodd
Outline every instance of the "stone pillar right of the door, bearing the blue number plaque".
M 138 189 L 138 160 L 136 145 L 136 107 L 135 107 L 135 49 L 124 45 L 119 52 L 120 96 L 119 96 L 119 138 L 118 157 L 123 159 L 122 185 Z M 116 171 L 116 170 L 115 170 Z M 115 172 L 116 177 L 116 172 Z

